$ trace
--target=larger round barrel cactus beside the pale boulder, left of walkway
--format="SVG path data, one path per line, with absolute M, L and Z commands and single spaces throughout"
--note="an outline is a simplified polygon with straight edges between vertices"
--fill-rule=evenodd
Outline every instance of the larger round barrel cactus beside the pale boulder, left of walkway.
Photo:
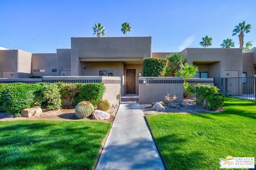
M 82 101 L 76 105 L 75 113 L 78 118 L 89 117 L 94 111 L 94 106 L 89 101 Z

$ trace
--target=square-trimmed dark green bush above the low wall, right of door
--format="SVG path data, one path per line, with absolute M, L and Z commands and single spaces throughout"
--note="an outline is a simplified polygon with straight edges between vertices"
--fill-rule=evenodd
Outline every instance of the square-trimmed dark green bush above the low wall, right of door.
M 168 60 L 166 58 L 145 58 L 143 61 L 144 77 L 164 77 Z

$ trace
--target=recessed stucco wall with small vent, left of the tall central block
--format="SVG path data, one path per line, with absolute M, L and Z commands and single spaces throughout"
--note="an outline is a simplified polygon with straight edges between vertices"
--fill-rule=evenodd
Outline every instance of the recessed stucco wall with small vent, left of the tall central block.
M 42 69 L 45 72 L 34 72 L 35 69 Z M 31 74 L 39 76 L 56 76 L 58 72 L 52 72 L 57 69 L 56 53 L 34 53 L 32 54 Z

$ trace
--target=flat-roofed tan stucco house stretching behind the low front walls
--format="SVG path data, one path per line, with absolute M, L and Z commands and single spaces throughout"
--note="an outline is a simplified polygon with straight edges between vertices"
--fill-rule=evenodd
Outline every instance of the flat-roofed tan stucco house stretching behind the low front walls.
M 243 53 L 240 48 L 185 48 L 178 53 L 198 66 L 196 78 L 252 77 L 256 72 L 256 49 Z M 121 77 L 122 95 L 138 94 L 143 60 L 171 54 L 152 53 L 151 37 L 73 37 L 71 48 L 57 53 L 0 48 L 0 78 L 115 76 Z

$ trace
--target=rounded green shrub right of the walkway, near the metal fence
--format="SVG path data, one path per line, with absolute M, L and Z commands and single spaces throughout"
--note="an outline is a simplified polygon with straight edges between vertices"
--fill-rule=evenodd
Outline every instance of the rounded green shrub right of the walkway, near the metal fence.
M 197 106 L 213 111 L 223 106 L 225 95 L 221 94 L 217 87 L 197 84 L 195 90 Z

